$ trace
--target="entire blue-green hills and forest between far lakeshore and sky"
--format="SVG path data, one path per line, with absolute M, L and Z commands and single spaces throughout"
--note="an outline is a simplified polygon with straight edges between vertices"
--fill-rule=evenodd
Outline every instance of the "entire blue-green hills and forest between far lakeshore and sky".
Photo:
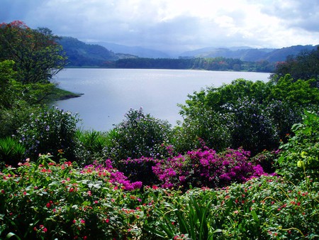
M 140 58 L 125 52 L 114 53 L 97 44 L 87 44 L 77 38 L 62 37 L 59 43 L 67 57 L 67 67 L 115 67 L 159 69 L 204 69 L 273 72 L 276 62 L 296 56 L 317 46 L 296 45 L 281 49 L 202 48 L 181 53 L 178 58 Z

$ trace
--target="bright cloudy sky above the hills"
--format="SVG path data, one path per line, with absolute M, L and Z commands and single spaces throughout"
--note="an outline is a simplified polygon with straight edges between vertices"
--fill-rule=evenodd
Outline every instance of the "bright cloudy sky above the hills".
M 184 52 L 319 44 L 319 0 L 0 0 L 0 23 Z

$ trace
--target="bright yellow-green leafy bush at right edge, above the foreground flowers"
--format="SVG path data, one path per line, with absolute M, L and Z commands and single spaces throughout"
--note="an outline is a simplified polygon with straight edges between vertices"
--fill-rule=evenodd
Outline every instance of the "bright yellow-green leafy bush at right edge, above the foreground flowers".
M 303 122 L 294 124 L 293 136 L 281 145 L 278 172 L 293 181 L 319 179 L 319 116 L 305 111 Z

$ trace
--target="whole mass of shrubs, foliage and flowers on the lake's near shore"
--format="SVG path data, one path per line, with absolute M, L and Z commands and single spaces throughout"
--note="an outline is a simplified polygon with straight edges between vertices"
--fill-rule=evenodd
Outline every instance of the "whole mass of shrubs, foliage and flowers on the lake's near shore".
M 279 68 L 190 94 L 174 128 L 130 109 L 99 132 L 46 107 L 50 76 L 29 82 L 6 58 L 1 239 L 318 239 L 318 75 Z

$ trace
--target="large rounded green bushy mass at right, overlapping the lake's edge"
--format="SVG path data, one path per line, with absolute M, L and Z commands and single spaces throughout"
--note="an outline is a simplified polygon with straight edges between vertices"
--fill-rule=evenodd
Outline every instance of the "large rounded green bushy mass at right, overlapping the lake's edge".
M 286 75 L 276 83 L 240 79 L 194 92 L 180 105 L 184 122 L 176 136 L 185 143 L 180 141 L 179 151 L 195 146 L 198 138 L 209 148 L 242 146 L 253 155 L 277 148 L 303 109 L 318 109 L 319 89 L 312 83 Z

